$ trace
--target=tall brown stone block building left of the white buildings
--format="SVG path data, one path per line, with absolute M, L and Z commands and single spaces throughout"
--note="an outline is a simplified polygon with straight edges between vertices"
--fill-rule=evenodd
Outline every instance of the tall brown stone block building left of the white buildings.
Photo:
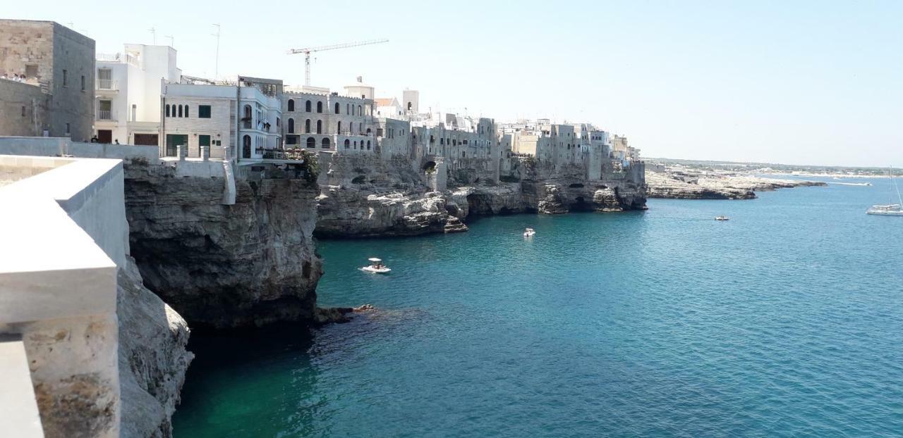
M 0 20 L 0 135 L 91 138 L 94 40 L 59 23 Z M 8 115 L 7 115 L 8 114 Z

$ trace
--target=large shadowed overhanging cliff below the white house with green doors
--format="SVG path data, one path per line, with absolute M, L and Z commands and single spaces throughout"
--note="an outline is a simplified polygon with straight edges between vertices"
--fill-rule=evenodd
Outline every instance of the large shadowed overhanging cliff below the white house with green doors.
M 288 174 L 176 178 L 165 166 L 126 167 L 130 245 L 144 284 L 192 326 L 312 322 L 321 276 L 312 232 L 318 188 Z

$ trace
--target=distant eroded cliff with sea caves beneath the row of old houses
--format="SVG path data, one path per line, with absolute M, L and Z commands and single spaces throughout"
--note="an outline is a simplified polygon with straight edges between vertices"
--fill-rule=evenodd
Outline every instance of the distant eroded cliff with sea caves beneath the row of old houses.
M 569 211 L 619 212 L 646 208 L 642 166 L 628 174 L 608 169 L 606 178 L 588 180 L 579 165 L 554 167 L 516 158 L 498 182 L 491 160 L 467 160 L 450 169 L 450 187 L 427 186 L 409 160 L 378 156 L 334 156 L 321 177 L 316 233 L 323 237 L 402 236 L 444 233 L 449 219 L 470 215 Z M 461 165 L 461 163 L 459 163 Z M 460 227 L 452 227 L 461 231 Z M 466 229 L 466 227 L 464 227 Z

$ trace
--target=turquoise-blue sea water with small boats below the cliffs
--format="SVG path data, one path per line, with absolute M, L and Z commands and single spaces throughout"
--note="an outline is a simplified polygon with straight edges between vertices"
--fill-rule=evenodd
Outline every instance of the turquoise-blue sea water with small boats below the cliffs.
M 870 181 L 321 242 L 321 306 L 380 311 L 193 335 L 175 435 L 903 435 L 903 218 Z

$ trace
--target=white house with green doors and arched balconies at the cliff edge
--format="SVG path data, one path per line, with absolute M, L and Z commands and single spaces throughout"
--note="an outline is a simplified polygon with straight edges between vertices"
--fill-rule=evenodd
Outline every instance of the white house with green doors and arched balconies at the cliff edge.
M 209 146 L 211 158 L 229 150 L 239 161 L 262 160 L 267 151 L 282 149 L 281 80 L 182 82 L 163 84 L 161 156 L 174 157 L 178 146 L 187 146 L 188 157 L 199 157 L 200 148 Z

